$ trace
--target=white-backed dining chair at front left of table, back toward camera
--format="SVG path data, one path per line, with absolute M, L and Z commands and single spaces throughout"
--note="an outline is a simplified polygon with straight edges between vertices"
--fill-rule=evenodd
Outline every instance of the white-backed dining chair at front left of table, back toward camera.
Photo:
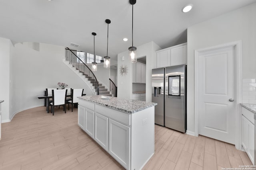
M 54 106 L 63 105 L 66 113 L 67 91 L 67 89 L 52 90 L 52 102 L 50 103 L 52 115 L 54 115 Z

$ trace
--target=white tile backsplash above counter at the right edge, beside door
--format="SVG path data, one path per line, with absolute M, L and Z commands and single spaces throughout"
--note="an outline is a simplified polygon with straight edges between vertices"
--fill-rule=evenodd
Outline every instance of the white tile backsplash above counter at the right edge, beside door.
M 256 104 L 256 78 L 243 79 L 242 102 Z

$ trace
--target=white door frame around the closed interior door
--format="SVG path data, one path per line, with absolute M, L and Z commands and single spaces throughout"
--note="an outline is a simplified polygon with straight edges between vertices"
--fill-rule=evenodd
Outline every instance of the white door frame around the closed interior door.
M 194 93 L 194 102 L 195 102 L 195 136 L 198 136 L 199 134 L 199 113 L 198 113 L 198 108 L 199 108 L 199 55 L 200 53 L 206 52 L 206 51 L 212 51 L 212 50 L 217 50 L 217 49 L 222 49 L 226 47 L 235 47 L 235 81 L 236 81 L 236 86 L 235 86 L 235 92 L 236 92 L 236 137 L 235 137 L 235 146 L 236 149 L 241 150 L 241 101 L 242 101 L 242 41 L 233 41 L 230 43 L 224 43 L 220 45 L 215 45 L 211 47 L 206 47 L 202 49 L 197 49 L 194 51 L 194 56 L 195 56 L 195 63 L 194 63 L 194 68 L 195 68 L 195 93 Z

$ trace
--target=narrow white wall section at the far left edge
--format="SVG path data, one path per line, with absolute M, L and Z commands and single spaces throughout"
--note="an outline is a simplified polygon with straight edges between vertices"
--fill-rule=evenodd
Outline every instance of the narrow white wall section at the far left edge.
M 0 38 L 0 100 L 2 103 L 2 122 L 9 120 L 10 113 L 10 55 L 12 43 L 9 39 Z

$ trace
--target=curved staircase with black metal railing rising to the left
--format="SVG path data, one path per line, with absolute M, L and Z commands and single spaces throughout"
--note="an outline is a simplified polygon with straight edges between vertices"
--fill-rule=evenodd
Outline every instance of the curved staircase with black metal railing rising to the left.
M 76 51 L 66 48 L 66 58 L 63 62 L 84 80 L 94 95 L 112 96 L 108 89 L 98 82 L 92 70 L 75 53 Z

